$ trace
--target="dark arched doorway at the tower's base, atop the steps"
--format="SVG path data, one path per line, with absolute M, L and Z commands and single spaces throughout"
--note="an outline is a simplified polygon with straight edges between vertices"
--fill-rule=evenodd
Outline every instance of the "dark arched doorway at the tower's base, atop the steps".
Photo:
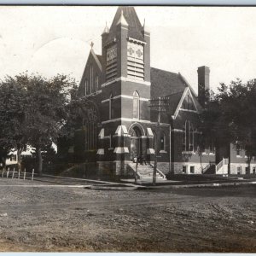
M 142 154 L 142 132 L 137 126 L 130 129 L 131 135 L 131 160 Z

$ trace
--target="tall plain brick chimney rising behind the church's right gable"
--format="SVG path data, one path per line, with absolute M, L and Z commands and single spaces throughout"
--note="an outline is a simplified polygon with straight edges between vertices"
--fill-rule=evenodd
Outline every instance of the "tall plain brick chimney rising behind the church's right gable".
M 210 90 L 210 68 L 206 66 L 198 67 L 198 102 L 201 107 L 205 107 L 206 91 Z

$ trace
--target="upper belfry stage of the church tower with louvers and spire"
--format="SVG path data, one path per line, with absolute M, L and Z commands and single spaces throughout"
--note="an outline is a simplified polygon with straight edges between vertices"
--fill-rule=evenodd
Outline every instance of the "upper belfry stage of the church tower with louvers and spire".
M 105 83 L 127 78 L 150 82 L 150 33 L 133 7 L 119 7 L 102 33 Z

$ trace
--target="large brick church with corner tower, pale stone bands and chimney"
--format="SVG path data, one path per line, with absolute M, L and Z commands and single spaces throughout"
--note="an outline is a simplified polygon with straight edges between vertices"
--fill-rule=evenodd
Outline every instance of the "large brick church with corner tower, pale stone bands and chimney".
M 212 143 L 198 152 L 198 114 L 210 69 L 199 67 L 197 73 L 198 96 L 181 73 L 151 67 L 148 27 L 133 7 L 119 7 L 102 32 L 102 55 L 91 47 L 84 67 L 78 95 L 91 108 L 76 132 L 73 154 L 116 176 L 132 175 L 139 155 L 148 167 L 157 157 L 163 176 L 203 173 L 219 161 L 223 172 L 226 163 Z

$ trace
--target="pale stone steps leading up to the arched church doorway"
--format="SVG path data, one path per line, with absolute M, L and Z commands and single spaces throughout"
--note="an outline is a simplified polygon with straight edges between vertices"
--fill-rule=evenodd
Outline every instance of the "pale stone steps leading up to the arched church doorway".
M 130 163 L 128 166 L 132 169 L 134 173 L 136 173 L 136 163 Z M 153 179 L 154 166 L 149 164 L 147 165 L 137 165 L 137 177 L 141 181 L 152 181 Z M 166 180 L 165 174 L 160 172 L 160 170 L 156 169 L 156 182 Z

